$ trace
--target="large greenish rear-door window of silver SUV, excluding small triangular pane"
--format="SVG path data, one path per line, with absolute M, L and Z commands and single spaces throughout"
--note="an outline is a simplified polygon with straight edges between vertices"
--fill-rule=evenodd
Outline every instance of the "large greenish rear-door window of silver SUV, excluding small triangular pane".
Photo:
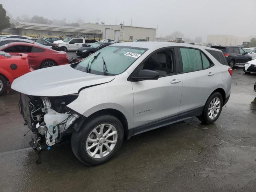
M 183 63 L 183 72 L 191 72 L 202 69 L 202 60 L 199 50 L 180 48 Z

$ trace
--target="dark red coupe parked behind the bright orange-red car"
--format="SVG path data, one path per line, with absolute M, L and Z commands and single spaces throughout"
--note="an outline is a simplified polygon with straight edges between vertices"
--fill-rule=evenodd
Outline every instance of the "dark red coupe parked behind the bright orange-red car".
M 28 54 L 28 61 L 33 68 L 45 68 L 69 63 L 66 52 L 55 51 L 31 43 L 8 43 L 0 46 L 0 51 L 8 52 L 11 55 Z

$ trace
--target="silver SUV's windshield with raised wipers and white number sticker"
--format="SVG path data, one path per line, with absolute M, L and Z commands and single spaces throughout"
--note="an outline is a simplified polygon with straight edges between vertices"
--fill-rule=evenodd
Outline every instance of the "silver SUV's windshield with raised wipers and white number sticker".
M 86 72 L 89 62 L 88 72 L 92 74 L 104 75 L 103 60 L 106 62 L 108 75 L 117 75 L 124 72 L 129 66 L 133 64 L 147 49 L 126 47 L 126 46 L 107 46 L 98 52 L 88 56 L 74 68 Z M 93 59 L 94 58 L 94 59 Z

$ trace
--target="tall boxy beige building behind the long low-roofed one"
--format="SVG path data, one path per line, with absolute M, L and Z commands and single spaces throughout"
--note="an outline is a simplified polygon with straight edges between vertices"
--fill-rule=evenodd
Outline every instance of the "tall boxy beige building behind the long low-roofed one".
M 81 28 L 94 28 L 101 30 L 102 39 L 114 39 L 122 41 L 132 41 L 135 39 L 146 39 L 148 41 L 156 40 L 156 28 L 144 28 L 134 26 L 121 26 L 121 25 L 105 25 L 85 23 L 80 26 Z

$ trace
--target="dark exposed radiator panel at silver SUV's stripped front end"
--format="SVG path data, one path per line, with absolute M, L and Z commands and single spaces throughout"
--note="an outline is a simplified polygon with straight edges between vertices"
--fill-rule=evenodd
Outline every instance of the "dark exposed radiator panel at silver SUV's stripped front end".
M 29 128 L 32 128 L 32 122 L 31 122 L 31 111 L 30 111 L 30 98 L 26 94 L 20 93 L 20 112 L 27 123 Z

